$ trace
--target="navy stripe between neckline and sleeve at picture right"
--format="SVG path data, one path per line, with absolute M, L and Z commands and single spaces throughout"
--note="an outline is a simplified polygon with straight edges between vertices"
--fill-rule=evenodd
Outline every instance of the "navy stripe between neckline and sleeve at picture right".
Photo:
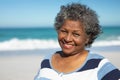
M 102 59 L 90 59 L 90 60 L 88 60 L 86 62 L 86 64 L 80 70 L 78 70 L 78 72 L 84 71 L 84 70 L 89 70 L 89 69 L 94 69 L 94 68 L 98 67 L 101 60 Z

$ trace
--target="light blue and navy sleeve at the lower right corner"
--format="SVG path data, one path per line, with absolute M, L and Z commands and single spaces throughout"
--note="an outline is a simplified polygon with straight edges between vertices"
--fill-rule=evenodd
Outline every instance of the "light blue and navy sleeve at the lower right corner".
M 120 80 L 120 70 L 106 62 L 98 71 L 98 80 Z

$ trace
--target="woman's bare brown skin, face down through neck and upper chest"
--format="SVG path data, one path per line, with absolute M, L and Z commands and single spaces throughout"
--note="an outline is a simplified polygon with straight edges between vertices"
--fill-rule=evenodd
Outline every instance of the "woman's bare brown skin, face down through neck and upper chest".
M 66 20 L 57 32 L 62 51 L 52 56 L 52 66 L 58 72 L 69 73 L 85 62 L 85 44 L 89 39 L 80 21 Z

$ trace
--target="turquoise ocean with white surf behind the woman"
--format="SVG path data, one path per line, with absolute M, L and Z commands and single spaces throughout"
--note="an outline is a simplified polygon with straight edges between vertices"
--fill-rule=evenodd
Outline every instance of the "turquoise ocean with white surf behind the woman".
M 120 26 L 103 26 L 93 47 L 120 46 Z M 0 51 L 59 48 L 54 27 L 0 28 Z

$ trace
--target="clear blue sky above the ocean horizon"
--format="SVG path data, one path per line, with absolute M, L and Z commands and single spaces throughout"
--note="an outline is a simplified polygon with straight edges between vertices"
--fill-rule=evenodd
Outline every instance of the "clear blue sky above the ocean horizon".
M 101 25 L 120 26 L 120 0 L 0 0 L 0 27 L 53 26 L 60 6 L 71 2 L 95 10 Z

